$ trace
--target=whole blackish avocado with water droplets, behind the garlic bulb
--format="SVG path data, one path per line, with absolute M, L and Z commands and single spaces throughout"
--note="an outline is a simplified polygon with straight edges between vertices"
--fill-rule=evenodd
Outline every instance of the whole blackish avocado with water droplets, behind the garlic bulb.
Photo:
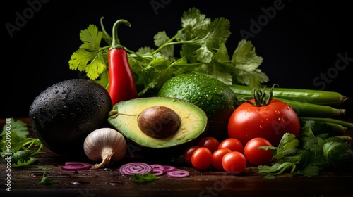
M 30 106 L 33 131 L 50 151 L 64 156 L 83 154 L 83 141 L 108 125 L 112 100 L 102 85 L 88 79 L 59 82 L 42 91 Z

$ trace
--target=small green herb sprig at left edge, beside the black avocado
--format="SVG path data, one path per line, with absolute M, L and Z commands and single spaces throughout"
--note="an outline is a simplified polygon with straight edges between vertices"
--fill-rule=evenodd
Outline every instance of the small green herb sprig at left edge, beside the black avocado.
M 4 126 L 0 134 L 1 158 L 11 157 L 11 166 L 19 167 L 34 163 L 37 158 L 34 155 L 44 153 L 40 150 L 42 142 L 37 138 L 28 137 L 28 127 L 21 120 L 11 118 L 11 132 L 8 135 Z

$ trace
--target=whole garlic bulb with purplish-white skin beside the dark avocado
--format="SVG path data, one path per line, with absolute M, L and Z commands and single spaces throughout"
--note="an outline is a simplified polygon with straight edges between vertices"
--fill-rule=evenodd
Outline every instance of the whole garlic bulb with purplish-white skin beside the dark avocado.
M 126 140 L 121 133 L 114 129 L 95 129 L 85 138 L 83 149 L 90 160 L 102 160 L 101 163 L 92 165 L 92 169 L 97 169 L 124 158 Z

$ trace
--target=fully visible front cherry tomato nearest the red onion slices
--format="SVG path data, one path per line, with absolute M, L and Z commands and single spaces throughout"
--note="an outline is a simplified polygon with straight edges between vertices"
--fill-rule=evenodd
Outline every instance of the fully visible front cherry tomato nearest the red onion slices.
M 208 148 L 200 147 L 193 151 L 193 155 L 191 155 L 191 163 L 196 169 L 205 170 L 210 167 L 212 161 L 211 158 L 211 151 Z

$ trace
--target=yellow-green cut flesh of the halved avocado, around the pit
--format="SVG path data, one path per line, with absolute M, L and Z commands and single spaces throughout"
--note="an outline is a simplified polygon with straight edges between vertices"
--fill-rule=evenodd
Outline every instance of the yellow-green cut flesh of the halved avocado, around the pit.
M 181 119 L 177 132 L 164 138 L 153 138 L 138 127 L 138 115 L 153 106 L 165 106 L 174 110 Z M 118 112 L 119 114 L 115 114 Z M 197 139 L 208 128 L 205 112 L 192 103 L 164 97 L 136 98 L 121 101 L 113 106 L 108 122 L 127 139 L 148 148 L 169 148 Z

